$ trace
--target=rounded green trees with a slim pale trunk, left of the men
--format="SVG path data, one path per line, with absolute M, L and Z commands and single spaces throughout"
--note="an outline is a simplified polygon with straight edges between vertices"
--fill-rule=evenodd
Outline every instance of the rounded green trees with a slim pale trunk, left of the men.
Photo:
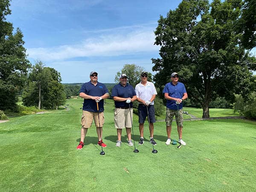
M 36 61 L 29 73 L 29 83 L 23 91 L 23 104 L 38 106 L 38 109 L 56 108 L 65 103 L 64 87 L 61 84 L 61 74 L 53 68 L 44 67 L 41 61 Z

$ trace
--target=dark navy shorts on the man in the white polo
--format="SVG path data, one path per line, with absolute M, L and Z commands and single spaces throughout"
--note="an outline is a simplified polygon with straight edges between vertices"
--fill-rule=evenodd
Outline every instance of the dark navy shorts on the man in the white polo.
M 148 105 L 148 111 L 147 111 L 146 105 L 139 104 L 138 113 L 139 113 L 139 123 L 144 123 L 147 116 L 149 116 L 149 122 L 151 123 L 156 122 L 154 105 Z

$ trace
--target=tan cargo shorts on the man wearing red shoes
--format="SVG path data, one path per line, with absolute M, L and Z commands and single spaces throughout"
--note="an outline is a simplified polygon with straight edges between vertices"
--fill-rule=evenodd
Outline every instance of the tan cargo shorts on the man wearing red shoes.
M 100 119 L 100 124 L 99 124 L 99 119 Z M 90 112 L 90 111 L 84 111 L 81 117 L 81 125 L 83 128 L 90 128 L 92 126 L 92 123 L 95 123 L 96 127 L 102 127 L 104 125 L 104 113 L 98 112 Z

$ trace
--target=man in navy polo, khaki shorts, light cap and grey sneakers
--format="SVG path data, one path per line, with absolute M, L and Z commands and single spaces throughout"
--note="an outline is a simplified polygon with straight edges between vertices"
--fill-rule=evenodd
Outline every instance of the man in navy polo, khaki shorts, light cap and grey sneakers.
M 125 74 L 120 75 L 119 81 L 119 84 L 116 84 L 112 89 L 112 97 L 115 101 L 116 107 L 114 113 L 114 122 L 117 131 L 116 147 L 121 146 L 121 136 L 123 128 L 126 128 L 128 145 L 133 146 L 131 140 L 131 122 L 133 115 L 132 102 L 137 99 L 137 96 L 134 88 L 127 83 L 127 76 Z

